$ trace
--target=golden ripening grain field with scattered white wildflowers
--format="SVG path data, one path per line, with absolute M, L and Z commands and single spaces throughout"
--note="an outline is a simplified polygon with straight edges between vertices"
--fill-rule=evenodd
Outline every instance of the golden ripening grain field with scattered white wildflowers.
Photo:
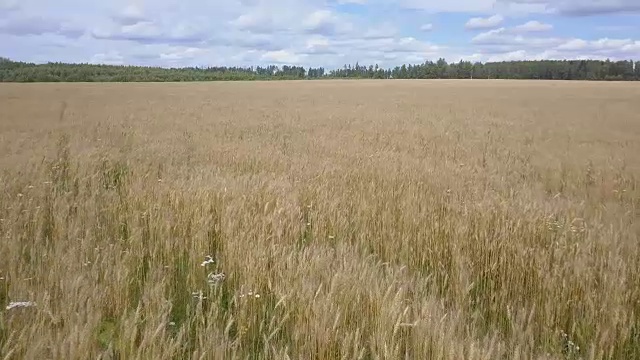
M 0 84 L 0 359 L 639 359 L 639 99 Z

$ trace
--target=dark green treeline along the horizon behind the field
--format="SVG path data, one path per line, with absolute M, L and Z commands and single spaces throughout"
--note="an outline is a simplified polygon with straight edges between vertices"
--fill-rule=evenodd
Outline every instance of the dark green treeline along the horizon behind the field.
M 445 59 L 384 69 L 345 65 L 341 69 L 300 66 L 160 68 L 92 64 L 33 64 L 0 58 L 2 82 L 164 82 L 296 79 L 546 79 L 640 80 L 640 61 L 543 60 L 447 63 Z

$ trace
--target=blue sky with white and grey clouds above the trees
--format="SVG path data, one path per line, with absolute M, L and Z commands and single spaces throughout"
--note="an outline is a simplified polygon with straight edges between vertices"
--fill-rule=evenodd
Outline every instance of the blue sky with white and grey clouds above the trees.
M 640 60 L 640 0 L 0 0 L 0 56 L 329 69 Z

